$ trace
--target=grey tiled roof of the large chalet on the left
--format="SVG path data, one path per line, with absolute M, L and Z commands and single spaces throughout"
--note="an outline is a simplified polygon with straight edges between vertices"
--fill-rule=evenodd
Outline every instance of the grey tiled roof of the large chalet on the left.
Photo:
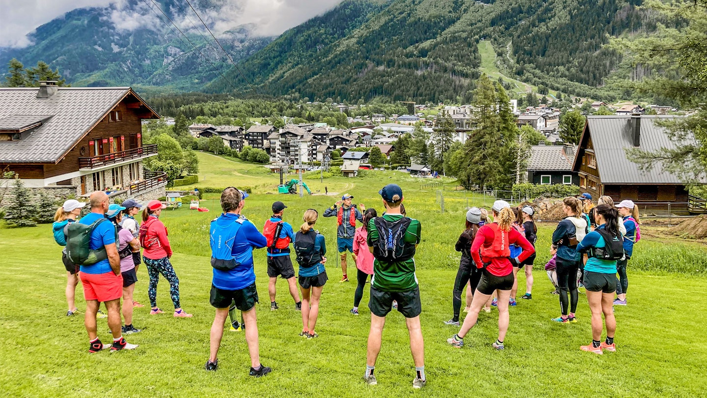
M 130 94 L 151 111 L 154 119 L 160 118 L 130 87 L 59 87 L 51 98 L 37 98 L 37 91 L 35 87 L 0 88 L 0 119 L 52 115 L 36 130 L 25 133 L 21 140 L 0 144 L 0 161 L 59 162 L 108 111 Z

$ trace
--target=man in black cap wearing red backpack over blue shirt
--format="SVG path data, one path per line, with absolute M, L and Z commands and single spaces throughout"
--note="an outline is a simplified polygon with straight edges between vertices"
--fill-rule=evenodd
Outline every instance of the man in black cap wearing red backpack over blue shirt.
M 265 222 L 263 227 L 263 235 L 267 239 L 267 275 L 270 277 L 267 290 L 270 295 L 270 310 L 274 311 L 279 308 L 275 301 L 275 284 L 277 277 L 281 276 L 287 280 L 290 295 L 295 300 L 295 309 L 302 311 L 300 294 L 297 292 L 295 269 L 290 258 L 289 245 L 295 240 L 295 232 L 288 222 L 282 220 L 286 208 L 287 206 L 280 201 L 273 203 L 272 217 Z

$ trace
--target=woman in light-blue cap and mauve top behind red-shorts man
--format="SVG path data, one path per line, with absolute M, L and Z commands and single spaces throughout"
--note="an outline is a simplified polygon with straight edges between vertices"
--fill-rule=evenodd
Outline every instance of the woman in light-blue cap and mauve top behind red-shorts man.
M 125 326 L 123 326 L 124 334 L 139 333 L 141 330 L 136 329 L 132 324 L 133 314 L 133 293 L 135 291 L 135 283 L 137 282 L 137 273 L 135 272 L 135 261 L 132 254 L 140 251 L 140 241 L 133 236 L 129 229 L 120 226 L 122 221 L 122 211 L 126 210 L 121 205 L 110 205 L 105 217 L 115 224 L 118 231 L 118 256 L 120 257 L 120 273 L 123 277 L 123 305 L 122 313 Z

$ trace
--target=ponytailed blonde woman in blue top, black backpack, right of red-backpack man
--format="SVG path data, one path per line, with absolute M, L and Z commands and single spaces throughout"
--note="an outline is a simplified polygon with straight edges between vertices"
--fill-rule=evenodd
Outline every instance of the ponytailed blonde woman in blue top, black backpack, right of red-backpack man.
M 324 235 L 314 228 L 319 214 L 317 210 L 309 209 L 303 215 L 304 224 L 295 234 L 295 253 L 300 265 L 299 279 L 302 289 L 302 332 L 300 336 L 308 339 L 319 337 L 315 327 L 319 316 L 319 301 L 322 297 L 322 288 L 327 283 L 327 245 Z

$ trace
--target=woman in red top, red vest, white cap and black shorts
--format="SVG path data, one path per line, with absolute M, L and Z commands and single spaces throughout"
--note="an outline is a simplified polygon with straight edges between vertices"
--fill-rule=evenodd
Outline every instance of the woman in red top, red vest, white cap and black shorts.
M 459 333 L 447 340 L 457 348 L 464 346 L 464 336 L 477 323 L 481 307 L 493 292 L 498 290 L 498 340 L 491 345 L 497 350 L 503 350 L 503 339 L 506 339 L 506 331 L 508 331 L 508 298 L 513 288 L 513 266 L 518 267 L 535 252 L 534 247 L 523 234 L 510 227 L 515 216 L 506 201 L 496 200 L 491 210 L 493 210 L 493 223 L 479 228 L 471 249 L 474 263 L 478 268 L 484 268 L 472 300 L 472 308 L 464 318 Z M 518 257 L 510 257 L 509 244 L 520 246 L 522 251 Z

